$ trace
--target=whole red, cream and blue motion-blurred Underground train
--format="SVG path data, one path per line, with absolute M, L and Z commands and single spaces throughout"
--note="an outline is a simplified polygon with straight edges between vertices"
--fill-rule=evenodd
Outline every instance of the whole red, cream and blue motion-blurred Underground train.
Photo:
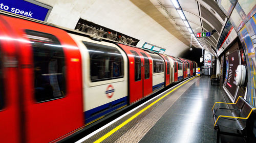
M 169 84 L 197 63 L 0 15 L 0 140 L 51 142 Z

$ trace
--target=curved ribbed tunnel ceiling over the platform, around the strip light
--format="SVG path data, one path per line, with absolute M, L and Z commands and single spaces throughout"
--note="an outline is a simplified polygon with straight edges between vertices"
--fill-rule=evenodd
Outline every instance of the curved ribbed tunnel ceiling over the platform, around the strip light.
M 217 32 L 207 38 L 197 38 L 204 49 L 215 55 L 220 35 L 227 18 L 214 0 L 177 0 L 180 8 L 196 35 L 198 32 Z M 170 34 L 174 35 L 186 45 L 190 45 L 190 32 L 179 16 L 171 0 L 131 0 L 138 8 L 151 16 Z M 158 12 L 156 12 L 158 11 Z M 159 16 L 159 13 L 162 16 Z M 192 45 L 201 46 L 192 38 Z M 212 49 L 214 48 L 214 49 Z

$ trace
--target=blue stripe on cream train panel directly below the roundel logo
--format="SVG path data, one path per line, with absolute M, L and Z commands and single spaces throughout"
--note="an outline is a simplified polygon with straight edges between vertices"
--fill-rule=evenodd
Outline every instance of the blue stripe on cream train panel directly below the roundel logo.
M 104 105 L 101 105 L 99 107 L 90 109 L 88 111 L 84 112 L 84 119 L 86 119 L 85 123 L 90 123 L 91 121 L 98 119 L 102 116 L 104 116 L 106 113 L 109 113 L 113 110 L 116 110 L 124 105 L 127 105 L 127 96 L 117 99 L 115 101 L 106 103 Z

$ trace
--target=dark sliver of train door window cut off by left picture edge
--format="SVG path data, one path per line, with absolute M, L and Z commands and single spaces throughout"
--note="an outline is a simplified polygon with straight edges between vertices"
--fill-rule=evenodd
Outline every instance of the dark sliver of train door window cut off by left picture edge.
M 5 106 L 5 100 L 4 100 L 4 77 L 3 77 L 3 55 L 0 49 L 0 110 L 2 110 Z

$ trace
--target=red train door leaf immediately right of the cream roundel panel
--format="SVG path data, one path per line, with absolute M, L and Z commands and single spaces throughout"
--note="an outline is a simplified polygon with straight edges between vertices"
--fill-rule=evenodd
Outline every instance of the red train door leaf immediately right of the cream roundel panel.
M 143 97 L 143 61 L 144 59 L 135 48 L 118 44 L 127 54 L 129 59 L 129 96 L 130 103 Z

